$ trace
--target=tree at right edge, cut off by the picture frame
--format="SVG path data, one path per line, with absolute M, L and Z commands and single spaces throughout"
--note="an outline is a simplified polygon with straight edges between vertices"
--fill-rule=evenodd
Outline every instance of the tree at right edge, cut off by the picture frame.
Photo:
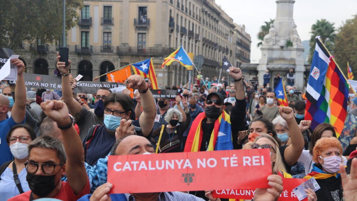
M 347 78 L 347 62 L 357 78 L 357 15 L 346 20 L 338 29 L 335 39 L 335 60 Z

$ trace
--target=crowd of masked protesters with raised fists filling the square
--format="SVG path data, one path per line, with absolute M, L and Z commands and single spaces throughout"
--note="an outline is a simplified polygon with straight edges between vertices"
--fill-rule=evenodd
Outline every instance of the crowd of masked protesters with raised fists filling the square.
M 2 80 L 0 200 L 110 200 L 109 155 L 254 148 L 270 149 L 273 174 L 267 178 L 270 188 L 256 189 L 252 200 L 277 200 L 282 178 L 292 177 L 316 178 L 321 189 L 306 190 L 309 201 L 357 200 L 356 97 L 350 99 L 337 139 L 330 124 L 312 129 L 304 119 L 306 102 L 296 93 L 292 69 L 286 87 L 289 107 L 283 107 L 270 85 L 278 84 L 280 74 L 271 80 L 268 70 L 261 86 L 257 79 L 245 80 L 235 67 L 229 69 L 230 78 L 166 86 L 177 91 L 175 99 L 154 99 L 150 83 L 131 75 L 125 81 L 135 90 L 131 98 L 130 90 L 112 93 L 108 88 L 73 93 L 71 61 L 66 66 L 59 58 L 57 53 L 62 90 L 26 88 L 19 59 L 11 60 L 16 86 Z M 218 138 L 217 132 L 225 135 Z M 111 200 L 221 200 L 211 192 L 125 193 Z

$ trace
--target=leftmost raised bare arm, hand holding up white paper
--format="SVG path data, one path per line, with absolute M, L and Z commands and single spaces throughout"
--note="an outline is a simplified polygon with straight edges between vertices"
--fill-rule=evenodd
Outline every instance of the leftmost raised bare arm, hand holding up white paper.
M 11 117 L 16 123 L 21 123 L 25 119 L 25 109 L 26 109 L 26 87 L 24 75 L 24 62 L 20 59 L 12 59 L 12 65 L 17 67 L 17 80 L 15 87 L 15 103 L 12 106 Z

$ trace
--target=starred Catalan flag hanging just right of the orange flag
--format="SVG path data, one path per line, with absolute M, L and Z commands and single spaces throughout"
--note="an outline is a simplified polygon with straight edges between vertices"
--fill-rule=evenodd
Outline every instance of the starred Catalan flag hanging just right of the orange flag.
M 141 75 L 143 78 L 150 79 L 151 89 L 157 89 L 158 84 L 154 64 L 152 64 L 152 58 L 131 64 L 131 67 L 136 75 Z

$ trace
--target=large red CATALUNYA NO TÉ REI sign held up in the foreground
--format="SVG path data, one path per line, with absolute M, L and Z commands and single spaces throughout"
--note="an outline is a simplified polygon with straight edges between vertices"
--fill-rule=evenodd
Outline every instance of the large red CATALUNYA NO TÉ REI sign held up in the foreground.
M 271 175 L 269 149 L 108 158 L 108 182 L 114 185 L 111 193 L 267 188 L 268 175 Z

